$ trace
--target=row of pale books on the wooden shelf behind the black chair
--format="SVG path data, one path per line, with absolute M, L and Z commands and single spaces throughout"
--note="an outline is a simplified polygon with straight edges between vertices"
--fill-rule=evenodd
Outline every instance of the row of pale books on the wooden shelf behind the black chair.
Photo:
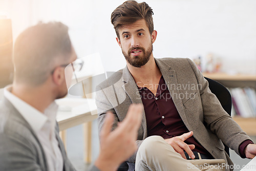
M 256 117 L 256 91 L 253 88 L 231 88 L 231 116 Z

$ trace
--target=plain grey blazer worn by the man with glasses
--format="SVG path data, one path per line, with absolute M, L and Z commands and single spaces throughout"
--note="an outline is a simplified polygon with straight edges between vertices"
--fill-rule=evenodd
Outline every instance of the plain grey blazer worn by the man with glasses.
M 63 157 L 63 170 L 75 170 L 59 137 L 58 124 L 55 133 Z M 6 98 L 0 103 L 0 170 L 49 170 L 44 149 L 32 127 Z

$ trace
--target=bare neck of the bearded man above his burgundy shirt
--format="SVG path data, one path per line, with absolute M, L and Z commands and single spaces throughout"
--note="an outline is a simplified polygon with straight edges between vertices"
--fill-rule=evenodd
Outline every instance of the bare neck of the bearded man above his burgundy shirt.
M 127 67 L 139 87 L 141 84 L 158 82 L 162 75 L 153 56 L 140 68 L 133 67 L 130 63 L 127 63 Z

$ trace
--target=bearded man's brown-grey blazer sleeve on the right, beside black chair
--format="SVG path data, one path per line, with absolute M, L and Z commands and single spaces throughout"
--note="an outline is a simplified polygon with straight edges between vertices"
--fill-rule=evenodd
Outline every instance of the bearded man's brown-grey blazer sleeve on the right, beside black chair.
M 200 98 L 203 106 L 204 122 L 210 131 L 216 134 L 223 143 L 233 149 L 238 155 L 240 144 L 250 139 L 241 127 L 222 108 L 218 98 L 211 93 L 208 81 L 203 77 L 193 61 L 187 59 L 193 68 L 198 84 L 200 85 Z

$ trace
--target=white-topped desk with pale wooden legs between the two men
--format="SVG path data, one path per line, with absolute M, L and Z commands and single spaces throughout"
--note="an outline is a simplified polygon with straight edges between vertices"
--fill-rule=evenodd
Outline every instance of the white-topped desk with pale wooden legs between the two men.
M 55 100 L 59 105 L 57 122 L 60 137 L 66 147 L 66 129 L 84 123 L 84 161 L 92 162 L 92 125 L 91 121 L 97 118 L 95 99 L 63 98 Z

